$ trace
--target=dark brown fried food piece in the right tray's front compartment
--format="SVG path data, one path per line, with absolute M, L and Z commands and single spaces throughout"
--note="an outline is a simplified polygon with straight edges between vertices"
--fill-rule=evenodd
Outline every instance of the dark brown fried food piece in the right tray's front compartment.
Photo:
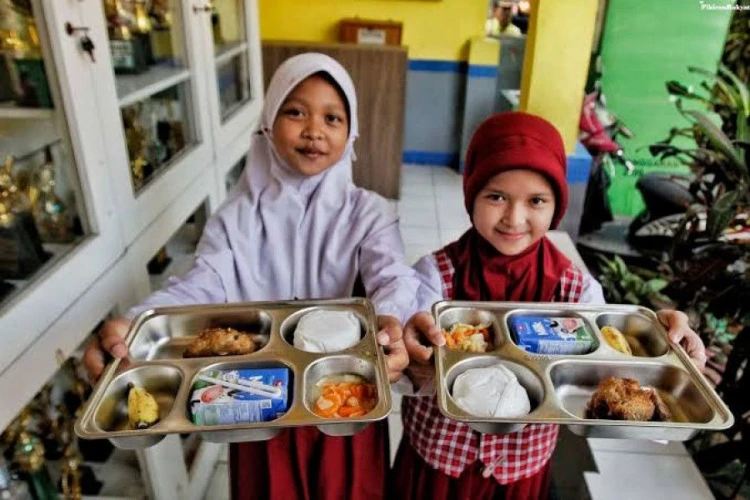
M 654 389 L 642 388 L 630 378 L 604 379 L 589 401 L 588 418 L 662 422 L 671 418 L 669 409 Z

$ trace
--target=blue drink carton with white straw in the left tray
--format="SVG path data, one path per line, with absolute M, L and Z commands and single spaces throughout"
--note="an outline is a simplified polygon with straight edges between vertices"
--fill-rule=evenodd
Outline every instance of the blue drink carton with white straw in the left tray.
M 268 422 L 288 409 L 289 370 L 266 368 L 201 372 L 193 384 L 195 425 Z

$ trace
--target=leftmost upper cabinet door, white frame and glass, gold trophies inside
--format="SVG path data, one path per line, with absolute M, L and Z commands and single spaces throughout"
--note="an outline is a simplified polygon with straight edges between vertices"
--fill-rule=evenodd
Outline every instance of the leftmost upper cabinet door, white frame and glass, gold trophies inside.
M 0 0 L 0 372 L 123 250 L 82 12 Z

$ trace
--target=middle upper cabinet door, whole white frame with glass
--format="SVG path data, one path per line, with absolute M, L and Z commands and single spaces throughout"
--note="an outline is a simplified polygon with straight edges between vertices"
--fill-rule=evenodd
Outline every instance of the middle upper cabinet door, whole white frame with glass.
M 86 8 L 113 190 L 126 244 L 212 155 L 201 13 L 181 0 L 94 0 Z

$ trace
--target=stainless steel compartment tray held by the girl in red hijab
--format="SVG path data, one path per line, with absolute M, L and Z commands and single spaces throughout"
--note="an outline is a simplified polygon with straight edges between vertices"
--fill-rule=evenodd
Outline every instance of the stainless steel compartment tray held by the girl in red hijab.
M 587 354 L 534 354 L 519 348 L 511 335 L 512 315 L 582 318 L 596 342 Z M 473 354 L 440 347 L 436 350 L 436 387 L 440 411 L 484 433 L 516 432 L 528 424 L 560 424 L 580 435 L 625 439 L 684 441 L 701 430 L 732 426 L 731 412 L 682 347 L 672 343 L 656 314 L 630 305 L 442 301 L 433 306 L 441 329 L 456 322 L 491 322 L 492 350 Z M 609 346 L 600 327 L 617 326 L 633 355 Z M 453 381 L 465 369 L 502 363 L 526 388 L 531 412 L 519 418 L 480 418 L 461 409 L 451 396 Z M 586 405 L 599 382 L 608 376 L 633 378 L 655 388 L 672 411 L 669 422 L 585 418 Z

